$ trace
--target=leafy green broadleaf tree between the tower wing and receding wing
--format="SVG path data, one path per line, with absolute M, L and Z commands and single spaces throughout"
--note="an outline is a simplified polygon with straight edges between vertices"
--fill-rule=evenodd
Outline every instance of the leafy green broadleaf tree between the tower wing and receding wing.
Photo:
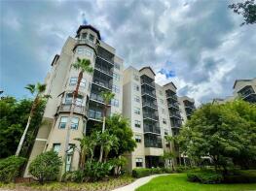
M 115 135 L 118 138 L 118 149 L 110 151 L 112 156 L 120 156 L 125 152 L 131 152 L 136 147 L 133 140 L 133 133 L 128 123 L 128 119 L 121 114 L 113 114 L 106 119 L 106 129 L 110 135 Z

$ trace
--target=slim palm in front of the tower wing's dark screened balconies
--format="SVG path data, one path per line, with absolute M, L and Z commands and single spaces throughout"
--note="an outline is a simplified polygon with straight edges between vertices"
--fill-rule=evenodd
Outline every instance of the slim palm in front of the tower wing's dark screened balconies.
M 102 91 L 100 92 L 100 95 L 104 101 L 104 107 L 103 107 L 103 124 L 102 124 L 102 133 L 105 131 L 105 125 L 106 125 L 106 115 L 107 110 L 109 108 L 109 102 L 115 97 L 115 94 L 111 91 Z M 103 146 L 100 146 L 100 153 L 99 153 L 99 162 L 102 162 L 103 157 Z

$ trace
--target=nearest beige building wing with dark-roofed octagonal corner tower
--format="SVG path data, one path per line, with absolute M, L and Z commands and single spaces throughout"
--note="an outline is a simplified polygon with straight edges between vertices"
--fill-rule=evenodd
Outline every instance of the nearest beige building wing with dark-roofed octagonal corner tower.
M 38 154 L 54 148 L 58 155 L 65 154 L 64 144 L 67 135 L 67 120 L 71 111 L 72 92 L 74 92 L 79 71 L 72 67 L 77 57 L 91 60 L 93 74 L 84 74 L 71 119 L 69 144 L 79 146 L 76 138 L 91 132 L 95 123 L 101 123 L 103 99 L 101 91 L 113 91 L 115 98 L 111 102 L 109 113 L 122 112 L 123 103 L 123 60 L 118 57 L 115 48 L 101 41 L 99 31 L 91 25 L 81 25 L 75 38 L 68 37 L 60 54 L 52 62 L 51 72 L 45 80 L 46 94 L 52 99 L 47 102 L 35 143 L 31 150 L 27 167 Z M 66 162 L 66 171 L 78 168 L 79 153 L 70 149 Z M 28 176 L 28 168 L 25 175 Z

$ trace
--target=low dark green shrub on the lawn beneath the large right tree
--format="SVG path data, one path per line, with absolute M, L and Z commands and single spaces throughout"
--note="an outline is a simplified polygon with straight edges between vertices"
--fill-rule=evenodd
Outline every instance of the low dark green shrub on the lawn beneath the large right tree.
M 215 172 L 191 172 L 187 174 L 188 180 L 205 184 L 220 183 L 223 180 L 221 174 Z

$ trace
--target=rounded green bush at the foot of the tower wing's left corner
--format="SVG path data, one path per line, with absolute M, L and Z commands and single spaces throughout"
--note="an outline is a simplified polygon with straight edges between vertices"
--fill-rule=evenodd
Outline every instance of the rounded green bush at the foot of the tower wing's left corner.
M 55 180 L 59 174 L 61 158 L 53 150 L 39 154 L 29 165 L 29 173 L 43 184 Z

